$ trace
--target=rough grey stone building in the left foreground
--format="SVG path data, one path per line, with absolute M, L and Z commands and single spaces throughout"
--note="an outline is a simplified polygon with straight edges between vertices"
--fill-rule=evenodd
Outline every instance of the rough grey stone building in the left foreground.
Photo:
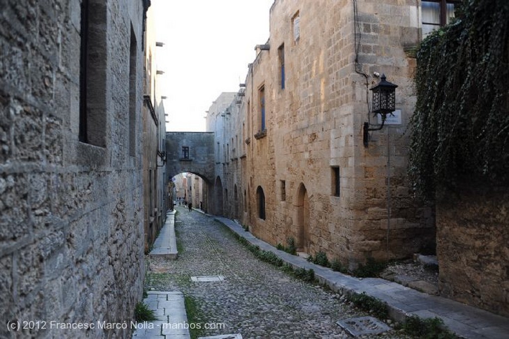
M 0 337 L 130 335 L 98 322 L 129 322 L 142 298 L 149 4 L 2 2 Z

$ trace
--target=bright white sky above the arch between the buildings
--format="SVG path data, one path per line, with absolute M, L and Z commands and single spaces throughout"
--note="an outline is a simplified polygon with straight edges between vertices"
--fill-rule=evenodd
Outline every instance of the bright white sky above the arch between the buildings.
M 152 0 L 167 131 L 205 131 L 205 111 L 245 81 L 254 46 L 269 38 L 274 0 Z

